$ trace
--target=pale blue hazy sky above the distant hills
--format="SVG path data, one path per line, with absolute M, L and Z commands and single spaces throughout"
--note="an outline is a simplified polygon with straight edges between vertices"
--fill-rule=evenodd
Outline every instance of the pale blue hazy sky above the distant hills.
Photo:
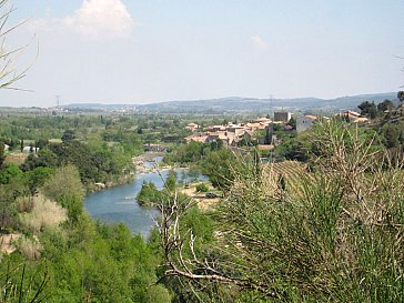
M 9 0 L 0 107 L 337 98 L 404 84 L 401 0 Z M 0 61 L 0 64 L 1 63 Z M 1 68 L 2 65 L 0 65 Z

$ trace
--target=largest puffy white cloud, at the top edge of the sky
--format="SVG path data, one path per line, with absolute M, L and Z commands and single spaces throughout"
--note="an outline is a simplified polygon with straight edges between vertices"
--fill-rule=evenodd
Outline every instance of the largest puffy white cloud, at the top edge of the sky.
M 110 40 L 129 37 L 133 18 L 121 0 L 83 0 L 73 16 L 58 19 L 47 11 L 47 17 L 34 20 L 33 26 L 40 31 L 74 30 L 94 40 Z

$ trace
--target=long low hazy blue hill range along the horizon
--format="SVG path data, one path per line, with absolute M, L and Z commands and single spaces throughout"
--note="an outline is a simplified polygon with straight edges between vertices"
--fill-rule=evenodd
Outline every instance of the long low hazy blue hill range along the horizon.
M 158 113 L 236 113 L 236 112 L 272 112 L 287 110 L 292 112 L 335 112 L 341 110 L 357 110 L 356 107 L 363 101 L 374 101 L 378 103 L 385 99 L 398 102 L 396 92 L 360 94 L 352 97 L 341 97 L 336 99 L 319 98 L 294 98 L 294 99 L 255 99 L 229 97 L 211 100 L 192 101 L 165 101 L 150 104 L 99 104 L 99 103 L 77 103 L 64 105 L 70 109 L 100 109 L 100 110 L 122 110 L 133 109 L 140 112 Z

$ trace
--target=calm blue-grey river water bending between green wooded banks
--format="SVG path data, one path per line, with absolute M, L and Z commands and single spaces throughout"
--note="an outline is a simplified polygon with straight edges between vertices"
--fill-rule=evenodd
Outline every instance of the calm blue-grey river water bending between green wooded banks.
M 152 163 L 145 163 L 145 166 L 151 165 Z M 178 180 L 189 182 L 195 178 L 195 175 L 188 175 L 186 169 L 175 171 Z M 145 239 L 155 226 L 153 219 L 159 216 L 159 211 L 154 208 L 140 206 L 135 196 L 143 181 L 152 181 L 161 190 L 168 173 L 169 171 L 162 171 L 161 175 L 155 171 L 139 173 L 131 183 L 91 193 L 84 200 L 85 209 L 93 219 L 101 222 L 122 222 L 133 233 L 140 233 Z M 205 180 L 206 178 L 199 175 L 196 179 Z

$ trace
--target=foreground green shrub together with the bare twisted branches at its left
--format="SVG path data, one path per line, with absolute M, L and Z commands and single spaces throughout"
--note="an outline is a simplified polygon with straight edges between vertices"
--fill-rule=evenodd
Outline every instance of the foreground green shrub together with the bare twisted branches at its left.
M 312 168 L 294 186 L 242 164 L 211 214 L 212 242 L 183 202 L 164 208 L 166 285 L 185 285 L 174 302 L 402 302 L 403 159 L 341 122 L 309 137 Z

